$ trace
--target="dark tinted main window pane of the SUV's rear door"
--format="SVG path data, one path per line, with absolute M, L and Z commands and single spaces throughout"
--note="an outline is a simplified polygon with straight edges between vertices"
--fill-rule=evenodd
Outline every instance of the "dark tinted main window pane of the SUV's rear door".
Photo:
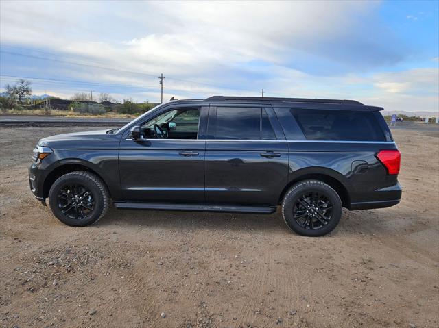
M 216 139 L 260 139 L 261 108 L 218 107 Z

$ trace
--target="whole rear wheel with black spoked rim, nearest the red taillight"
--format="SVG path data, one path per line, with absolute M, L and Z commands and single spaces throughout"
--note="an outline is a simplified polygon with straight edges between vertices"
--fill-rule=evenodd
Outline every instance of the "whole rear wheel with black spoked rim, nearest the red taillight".
M 285 194 L 282 216 L 297 234 L 323 236 L 340 222 L 342 201 L 337 192 L 322 181 L 300 181 Z

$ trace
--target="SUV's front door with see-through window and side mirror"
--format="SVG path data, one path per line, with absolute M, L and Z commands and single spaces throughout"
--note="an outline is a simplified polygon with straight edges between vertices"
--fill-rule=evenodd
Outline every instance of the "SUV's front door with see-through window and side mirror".
M 126 200 L 204 201 L 206 141 L 198 136 L 202 110 L 207 109 L 167 108 L 141 125 L 144 140 L 123 136 L 119 171 Z

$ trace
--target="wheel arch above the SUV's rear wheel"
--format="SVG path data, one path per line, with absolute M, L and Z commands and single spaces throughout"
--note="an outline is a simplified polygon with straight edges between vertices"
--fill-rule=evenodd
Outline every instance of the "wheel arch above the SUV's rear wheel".
M 302 168 L 298 171 L 290 173 L 289 183 L 283 188 L 281 195 L 279 197 L 279 203 L 282 202 L 283 197 L 294 184 L 303 180 L 319 180 L 328 184 L 337 192 L 340 200 L 342 201 L 343 207 L 349 208 L 351 205 L 351 197 L 349 197 L 349 191 L 351 188 L 348 186 L 348 182 L 345 181 L 346 177 L 337 171 L 331 170 L 329 168 Z

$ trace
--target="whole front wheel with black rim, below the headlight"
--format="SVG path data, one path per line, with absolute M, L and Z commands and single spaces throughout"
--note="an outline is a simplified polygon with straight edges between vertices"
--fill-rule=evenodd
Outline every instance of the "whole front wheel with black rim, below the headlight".
M 110 197 L 104 181 L 87 171 L 62 175 L 49 191 L 49 205 L 54 216 L 62 223 L 74 227 L 97 222 L 106 214 L 109 203 Z

